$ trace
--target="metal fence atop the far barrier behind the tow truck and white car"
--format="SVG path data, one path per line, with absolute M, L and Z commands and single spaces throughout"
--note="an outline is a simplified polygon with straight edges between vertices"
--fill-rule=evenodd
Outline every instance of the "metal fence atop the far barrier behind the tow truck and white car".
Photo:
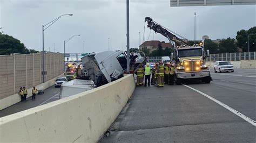
M 241 60 L 255 60 L 256 52 L 243 52 L 243 53 L 221 53 L 221 54 L 210 54 L 210 57 L 206 61 L 241 61 Z M 161 56 L 149 56 L 147 61 L 159 62 Z

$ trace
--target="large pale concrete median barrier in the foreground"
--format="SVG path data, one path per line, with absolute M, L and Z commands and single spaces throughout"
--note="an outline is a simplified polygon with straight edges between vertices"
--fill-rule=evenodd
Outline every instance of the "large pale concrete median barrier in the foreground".
M 135 88 L 132 75 L 0 118 L 0 142 L 97 142 Z

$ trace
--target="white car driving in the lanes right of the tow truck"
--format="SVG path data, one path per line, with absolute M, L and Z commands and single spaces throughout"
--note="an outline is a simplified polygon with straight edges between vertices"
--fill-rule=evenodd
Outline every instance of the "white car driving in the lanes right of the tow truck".
M 217 73 L 217 71 L 219 71 L 219 73 L 223 71 L 234 72 L 234 66 L 230 61 L 216 61 L 214 65 L 214 72 Z

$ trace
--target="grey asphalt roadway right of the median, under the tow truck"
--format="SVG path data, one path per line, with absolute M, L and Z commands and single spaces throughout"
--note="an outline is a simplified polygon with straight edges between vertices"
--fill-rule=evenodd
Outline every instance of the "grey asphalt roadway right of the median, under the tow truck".
M 100 142 L 256 142 L 256 69 L 210 84 L 136 87 Z

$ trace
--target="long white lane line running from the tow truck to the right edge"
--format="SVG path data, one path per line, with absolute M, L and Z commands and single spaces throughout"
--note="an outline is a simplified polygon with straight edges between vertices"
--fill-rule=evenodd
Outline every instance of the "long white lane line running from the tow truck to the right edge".
M 223 107 L 226 108 L 227 110 L 230 110 L 230 111 L 231 111 L 232 113 L 234 113 L 235 115 L 239 116 L 240 118 L 244 119 L 245 121 L 247 121 L 248 123 L 250 123 L 250 124 L 252 124 L 253 126 L 256 127 L 256 121 L 254 121 L 253 119 L 251 119 L 251 118 L 249 118 L 249 117 L 243 115 L 242 113 L 238 112 L 237 110 L 234 110 L 234 109 L 231 108 L 230 106 L 228 106 L 228 105 L 226 105 L 226 104 L 224 104 L 224 103 L 218 101 L 217 99 L 215 99 L 215 98 L 213 98 L 213 97 L 211 97 L 211 96 L 208 96 L 207 94 L 205 94 L 205 93 L 203 93 L 203 92 L 201 92 L 201 91 L 199 91 L 199 90 L 197 90 L 197 89 L 194 89 L 194 88 L 192 88 L 192 87 L 190 87 L 190 86 L 188 86 L 188 85 L 185 85 L 185 84 L 183 84 L 183 85 L 184 85 L 185 87 L 190 88 L 190 89 L 192 89 L 192 90 L 198 92 L 199 94 L 204 95 L 205 97 L 211 99 L 211 100 L 214 101 L 215 103 L 217 103 L 217 104 L 223 106 Z

